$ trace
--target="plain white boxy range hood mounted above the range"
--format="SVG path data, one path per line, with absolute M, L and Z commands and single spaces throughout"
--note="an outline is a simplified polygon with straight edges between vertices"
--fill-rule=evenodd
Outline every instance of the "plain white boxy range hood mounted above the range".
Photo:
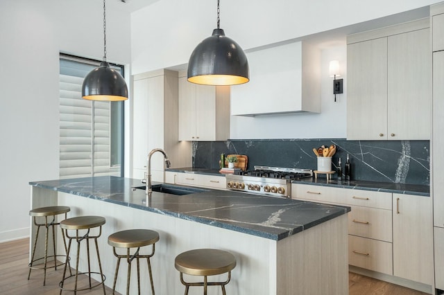
M 250 82 L 231 88 L 231 114 L 321 112 L 321 53 L 293 42 L 247 53 Z

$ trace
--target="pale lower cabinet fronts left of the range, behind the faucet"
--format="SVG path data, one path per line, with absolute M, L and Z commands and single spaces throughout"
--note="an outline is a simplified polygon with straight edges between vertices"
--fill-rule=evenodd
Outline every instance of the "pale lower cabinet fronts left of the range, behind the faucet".
M 165 182 L 169 184 L 183 184 L 185 186 L 198 186 L 203 188 L 225 189 L 227 181 L 225 176 L 202 175 L 183 172 L 165 172 Z

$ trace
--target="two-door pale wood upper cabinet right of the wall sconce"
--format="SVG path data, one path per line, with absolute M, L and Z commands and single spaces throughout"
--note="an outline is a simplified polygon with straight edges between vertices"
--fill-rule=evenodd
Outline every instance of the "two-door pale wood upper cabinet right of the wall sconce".
M 348 36 L 347 138 L 429 140 L 429 21 Z

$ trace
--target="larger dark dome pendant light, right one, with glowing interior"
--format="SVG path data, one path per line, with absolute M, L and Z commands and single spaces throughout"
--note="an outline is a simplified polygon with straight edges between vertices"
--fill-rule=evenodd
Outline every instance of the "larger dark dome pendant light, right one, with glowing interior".
M 188 81 L 207 85 L 244 84 L 250 80 L 248 60 L 241 46 L 225 36 L 220 24 L 217 0 L 217 28 L 196 48 L 188 62 Z

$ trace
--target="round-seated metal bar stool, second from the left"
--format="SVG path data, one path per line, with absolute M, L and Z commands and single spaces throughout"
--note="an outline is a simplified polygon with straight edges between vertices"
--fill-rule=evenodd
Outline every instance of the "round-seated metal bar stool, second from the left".
M 72 217 L 67 220 L 62 220 L 60 222 L 60 228 L 62 228 L 62 231 L 65 231 L 65 236 L 69 239 L 68 242 L 68 251 L 67 255 L 69 256 L 69 253 L 71 251 L 71 242 L 75 240 L 77 242 L 77 258 L 76 258 L 76 274 L 71 274 L 70 276 L 66 276 L 67 274 L 67 263 L 65 264 L 65 269 L 63 271 L 62 280 L 58 284 L 60 287 L 60 294 L 62 294 L 62 291 L 70 291 L 74 292 L 76 294 L 78 291 L 84 291 L 87 289 L 92 289 L 94 287 L 98 287 L 99 285 L 102 285 L 103 287 L 103 294 L 105 294 L 105 275 L 102 271 L 102 265 L 100 262 L 100 255 L 99 255 L 99 245 L 97 244 L 97 238 L 100 237 L 102 233 L 102 226 L 105 224 L 105 218 L 101 216 L 79 216 L 79 217 Z M 90 235 L 91 229 L 94 229 L 96 227 L 99 227 L 99 233 L 96 233 L 96 235 Z M 79 235 L 79 231 L 86 230 L 86 233 L 84 235 Z M 69 235 L 69 231 L 76 231 L 75 235 Z M 96 244 L 96 253 L 97 253 L 97 260 L 99 262 L 99 270 L 100 272 L 91 271 L 91 263 L 89 261 L 89 240 L 93 239 L 94 243 Z M 86 240 L 86 247 L 87 247 L 87 264 L 88 264 L 88 271 L 87 272 L 79 272 L 78 271 L 78 260 L 79 260 L 79 254 L 80 254 L 80 242 L 83 240 Z M 68 258 L 67 258 L 68 260 Z M 89 276 L 89 287 L 85 287 L 83 289 L 78 289 L 77 287 L 77 279 L 79 274 L 87 274 Z M 96 285 L 92 285 L 91 283 L 91 274 L 98 274 L 101 276 L 101 282 L 97 283 Z M 75 285 L 74 289 L 65 289 L 63 285 L 65 284 L 65 280 L 68 278 L 71 278 L 75 276 Z

